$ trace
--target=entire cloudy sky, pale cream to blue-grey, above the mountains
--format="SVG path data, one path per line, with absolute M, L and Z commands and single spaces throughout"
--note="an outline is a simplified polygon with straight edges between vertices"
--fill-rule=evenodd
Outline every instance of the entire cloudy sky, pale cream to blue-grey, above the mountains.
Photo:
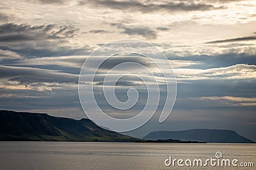
M 125 134 L 230 129 L 256 141 L 256 1 L 10 0 L 0 1 L 0 9 L 1 110 L 86 118 L 77 82 L 88 55 L 111 41 L 139 39 L 172 64 L 177 98 L 165 122 L 159 124 L 156 113 Z M 140 55 L 120 53 L 99 74 L 125 61 L 154 67 Z M 121 71 L 146 75 L 129 67 Z M 102 78 L 96 81 L 100 89 Z M 145 85 L 126 77 L 118 87 L 121 101 L 127 89 L 141 89 L 140 102 L 118 111 L 99 92 L 102 110 L 116 118 L 138 114 L 147 98 Z

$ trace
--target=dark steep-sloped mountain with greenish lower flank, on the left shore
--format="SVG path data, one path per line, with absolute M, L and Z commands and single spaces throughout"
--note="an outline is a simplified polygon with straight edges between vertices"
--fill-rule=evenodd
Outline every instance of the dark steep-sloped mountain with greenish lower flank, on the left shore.
M 132 138 L 102 129 L 83 118 L 52 117 L 43 113 L 0 110 L 0 141 L 126 141 Z

